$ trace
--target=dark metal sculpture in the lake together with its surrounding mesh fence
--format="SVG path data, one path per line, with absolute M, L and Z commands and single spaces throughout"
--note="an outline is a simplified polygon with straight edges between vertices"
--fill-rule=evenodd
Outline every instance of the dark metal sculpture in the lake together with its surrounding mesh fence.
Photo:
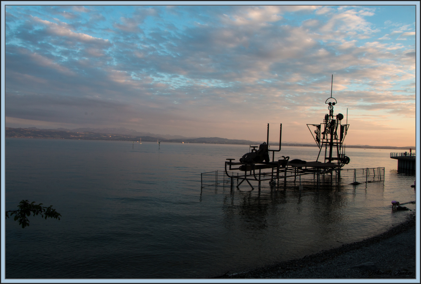
M 298 187 L 301 191 L 304 185 L 304 180 L 303 184 L 301 182 L 302 178 L 305 180 L 314 180 L 312 182 L 312 188 L 314 186 L 319 188 L 320 181 L 325 180 L 326 175 L 329 176 L 331 182 L 334 180 L 337 183 L 343 171 L 348 176 L 353 175 L 351 184 L 358 184 L 360 182 L 357 179 L 364 181 L 364 178 L 365 182 L 382 180 L 382 176 L 384 177 L 384 168 L 342 169 L 344 165 L 350 162 L 349 157 L 345 154 L 344 147 L 344 139 L 349 124 L 347 123 L 347 119 L 343 123 L 343 114 L 334 114 L 333 112 L 337 101 L 332 97 L 332 87 L 330 89 L 330 98 L 325 101 L 325 104 L 328 105 L 329 113 L 325 114 L 323 122 L 320 124 L 307 124 L 314 141 L 320 149 L 317 159 L 314 162 L 307 162 L 301 159 L 290 161 L 289 157 L 285 156 L 282 156 L 283 159 L 275 161 L 275 152 L 281 151 L 282 123 L 280 124 L 279 149 L 270 149 L 269 147 L 268 123 L 266 142 L 259 146 L 250 146 L 253 149 L 249 153 L 244 154 L 238 162 L 234 162 L 236 159 L 226 159 L 224 174 L 227 182 L 230 182 L 230 187 L 234 188 L 234 180 L 236 180 L 237 184 L 235 186 L 237 188 L 246 182 L 252 190 L 255 186 L 260 189 L 262 182 L 269 181 L 271 188 Z M 320 157 L 322 151 L 324 151 L 324 158 Z M 272 155 L 270 152 L 272 152 Z M 272 156 L 272 161 L 270 160 L 270 156 Z M 213 178 L 210 175 L 215 175 L 214 184 L 216 186 L 218 185 L 218 171 L 216 171 L 202 173 L 202 187 L 213 183 Z M 372 180 L 373 178 L 375 180 Z M 209 181 L 206 181 L 208 179 Z M 221 178 L 219 179 L 221 180 Z M 225 177 L 223 179 L 223 184 L 225 184 Z

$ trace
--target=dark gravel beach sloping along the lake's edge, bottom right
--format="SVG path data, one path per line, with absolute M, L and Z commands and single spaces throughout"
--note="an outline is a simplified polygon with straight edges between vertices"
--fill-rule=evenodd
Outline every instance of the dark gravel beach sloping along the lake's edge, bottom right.
M 297 260 L 218 276 L 224 279 L 414 279 L 416 278 L 415 213 L 388 231 L 352 244 Z

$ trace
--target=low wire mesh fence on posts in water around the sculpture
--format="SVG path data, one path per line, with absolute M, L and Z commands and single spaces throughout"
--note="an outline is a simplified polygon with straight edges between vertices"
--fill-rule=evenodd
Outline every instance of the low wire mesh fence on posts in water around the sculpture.
M 314 190 L 330 189 L 357 185 L 360 183 L 378 182 L 384 180 L 384 167 L 361 168 L 361 169 L 338 169 L 328 172 L 303 173 L 298 170 L 283 170 L 279 176 L 271 173 L 260 175 L 246 175 L 244 172 L 213 171 L 201 174 L 202 189 L 238 188 L 240 190 L 261 189 L 293 189 L 293 190 Z M 244 182 L 245 178 L 247 179 Z M 263 180 L 268 179 L 268 180 Z

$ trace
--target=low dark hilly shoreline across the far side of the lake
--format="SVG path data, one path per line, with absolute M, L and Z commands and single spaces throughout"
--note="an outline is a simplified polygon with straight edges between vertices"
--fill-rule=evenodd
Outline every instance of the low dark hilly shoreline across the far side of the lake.
M 71 132 L 62 130 L 39 130 L 27 128 L 11 128 L 5 127 L 6 138 L 37 138 L 37 139 L 69 139 L 69 140 L 106 140 L 106 141 L 142 141 L 142 142 L 168 142 L 168 143 L 200 143 L 200 144 L 232 144 L 232 145 L 258 145 L 261 143 L 249 140 L 227 139 L 220 137 L 201 137 L 201 138 L 185 138 L 185 139 L 165 139 L 162 137 L 152 136 L 133 136 L 112 133 L 94 133 L 94 132 Z M 269 146 L 278 147 L 279 143 L 270 143 Z M 317 147 L 314 144 L 306 143 L 281 143 L 281 146 L 298 146 L 298 147 Z M 357 149 L 388 149 L 388 150 L 416 150 L 415 146 L 395 147 L 395 146 L 370 146 L 370 145 L 346 145 L 346 148 Z

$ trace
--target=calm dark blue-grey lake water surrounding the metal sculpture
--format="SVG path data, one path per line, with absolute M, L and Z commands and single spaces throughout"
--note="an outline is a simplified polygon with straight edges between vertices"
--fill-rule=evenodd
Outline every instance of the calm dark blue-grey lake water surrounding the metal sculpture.
M 7 219 L 6 278 L 207 278 L 374 236 L 405 220 L 415 176 L 392 150 L 347 149 L 347 167 L 385 167 L 383 182 L 335 190 L 201 190 L 248 145 L 5 139 L 5 204 L 53 205 L 61 220 Z M 275 154 L 314 161 L 317 147 Z M 276 157 L 276 158 L 277 158 Z M 405 204 L 415 210 L 415 204 Z

